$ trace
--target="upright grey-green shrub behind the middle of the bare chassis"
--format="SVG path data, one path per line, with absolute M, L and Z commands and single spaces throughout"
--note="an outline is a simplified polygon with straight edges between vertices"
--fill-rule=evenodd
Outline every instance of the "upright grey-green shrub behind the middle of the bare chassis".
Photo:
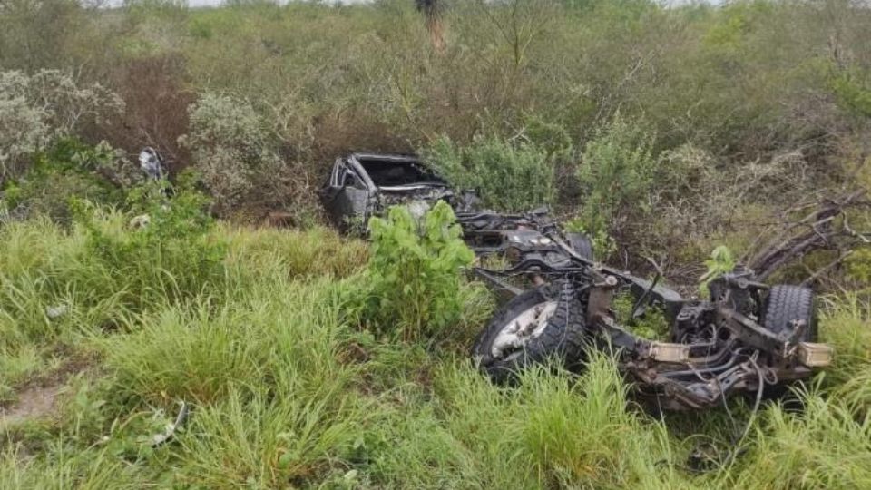
M 577 178 L 582 187 L 580 220 L 593 236 L 618 230 L 629 214 L 651 211 L 657 159 L 653 138 L 622 116 L 583 149 Z

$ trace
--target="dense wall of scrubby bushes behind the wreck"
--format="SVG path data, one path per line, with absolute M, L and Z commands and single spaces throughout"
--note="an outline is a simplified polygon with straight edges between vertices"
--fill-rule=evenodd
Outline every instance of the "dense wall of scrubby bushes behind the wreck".
M 871 11 L 861 3 L 464 1 L 441 12 L 438 50 L 410 2 L 149 5 L 131 4 L 111 14 L 121 21 L 103 22 L 109 13 L 54 1 L 5 11 L 0 23 L 34 23 L 60 9 L 52 29 L 110 39 L 99 54 L 71 43 L 65 61 L 36 55 L 34 64 L 85 67 L 83 81 L 112 84 L 135 113 L 106 138 L 127 151 L 159 146 L 179 160 L 173 170 L 196 165 L 222 216 L 252 220 L 280 208 L 309 222 L 317 217 L 313 190 L 338 153 L 422 148 L 494 207 L 550 204 L 580 214 L 577 222 L 603 241 L 617 235 L 618 245 L 631 246 L 646 228 L 662 228 L 649 226 L 641 208 L 679 220 L 675 228 L 688 235 L 735 228 L 736 216 L 715 212 L 721 204 L 699 206 L 711 190 L 734 197 L 719 192 L 731 171 L 747 170 L 752 181 L 784 170 L 788 156 L 798 163 L 768 172 L 757 195 L 793 196 L 802 191 L 788 189 L 794 175 L 837 185 L 844 156 L 867 139 L 871 54 L 862 46 L 871 44 Z M 20 66 L 19 45 L 50 45 L 41 33 L 52 29 L 28 37 L 16 28 L 20 42 L 5 50 L 6 65 Z M 15 110 L 5 120 L 28 114 Z M 619 124 L 624 153 L 612 163 L 593 155 L 611 152 Z M 182 132 L 180 152 L 168 139 Z M 16 144 L 38 144 L 28 134 Z M 704 167 L 691 171 L 700 178 L 670 180 L 680 176 L 671 166 L 699 155 Z M 636 157 L 647 162 L 614 166 Z M 608 187 L 623 175 L 625 183 Z M 784 175 L 788 184 L 774 182 Z M 696 212 L 704 219 L 692 219 Z M 682 248 L 678 238 L 659 241 Z

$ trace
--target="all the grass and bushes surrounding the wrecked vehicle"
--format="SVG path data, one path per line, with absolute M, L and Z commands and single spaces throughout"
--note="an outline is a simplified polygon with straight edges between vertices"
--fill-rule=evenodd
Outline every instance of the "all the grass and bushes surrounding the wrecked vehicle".
M 869 26 L 858 0 L 0 0 L 0 486 L 871 487 L 871 250 L 815 277 L 837 366 L 803 409 L 654 417 L 608 358 L 491 386 L 456 237 L 396 215 L 369 250 L 315 200 L 343 152 L 419 152 L 692 286 L 795 203 L 871 189 Z M 296 229 L 250 226 L 269 211 Z

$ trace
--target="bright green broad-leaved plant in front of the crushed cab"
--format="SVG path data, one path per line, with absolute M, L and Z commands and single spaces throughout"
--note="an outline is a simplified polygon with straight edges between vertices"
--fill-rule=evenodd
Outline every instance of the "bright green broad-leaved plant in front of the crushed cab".
M 404 207 L 369 220 L 370 305 L 365 313 L 381 331 L 407 340 L 445 335 L 462 312 L 460 269 L 474 259 L 444 201 L 418 223 Z

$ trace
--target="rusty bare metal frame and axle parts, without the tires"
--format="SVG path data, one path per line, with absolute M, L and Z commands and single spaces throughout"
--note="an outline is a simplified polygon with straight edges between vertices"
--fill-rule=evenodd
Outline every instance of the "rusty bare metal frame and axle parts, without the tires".
M 592 345 L 616 350 L 635 392 L 663 408 L 714 407 L 735 393 L 805 379 L 831 362 L 830 347 L 807 340 L 808 319 L 792 319 L 778 332 L 760 323 L 768 286 L 745 270 L 712 281 L 714 300 L 704 301 L 683 299 L 669 289 L 651 288 L 651 281 L 584 260 L 553 265 L 526 259 L 508 273 L 531 269 L 544 278 L 575 282 Z M 672 323 L 670 339 L 639 338 L 618 324 L 611 308 L 616 290 L 663 309 Z

